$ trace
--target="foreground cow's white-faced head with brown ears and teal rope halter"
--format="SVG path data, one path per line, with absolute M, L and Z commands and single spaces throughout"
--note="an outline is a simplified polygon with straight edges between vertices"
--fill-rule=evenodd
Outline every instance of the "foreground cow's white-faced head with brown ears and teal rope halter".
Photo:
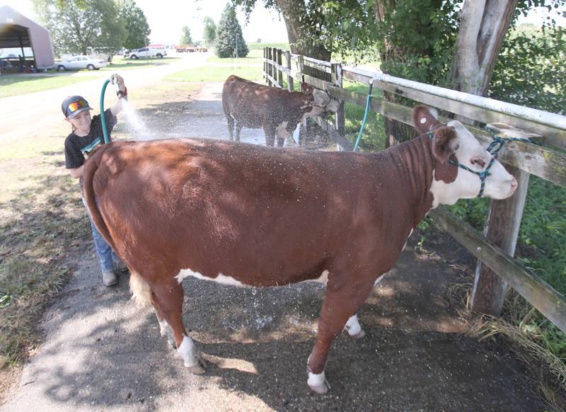
M 415 128 L 418 132 L 427 132 L 433 129 L 433 147 L 441 144 L 441 149 L 434 148 L 434 155 L 438 159 L 437 169 L 450 170 L 448 168 L 451 167 L 450 173 L 452 175 L 457 170 L 455 178 L 453 176 L 443 178 L 439 176 L 442 173 L 435 170 L 430 189 L 434 195 L 433 207 L 439 204 L 454 205 L 458 199 L 476 198 L 481 188 L 480 176 L 463 168 L 454 169 L 454 166 L 449 166 L 447 164 L 449 156 L 456 156 L 460 164 L 478 173 L 485 171 L 493 156 L 458 120 L 452 120 L 448 122 L 447 127 L 439 128 L 440 123 L 436 120 L 436 116 L 432 115 L 427 109 L 418 107 L 418 110 L 415 108 L 413 118 Z M 441 139 L 446 140 L 444 143 L 440 143 L 439 140 Z M 490 176 L 485 179 L 482 197 L 500 200 L 509 198 L 515 193 L 517 182 L 499 161 L 494 161 L 489 173 Z

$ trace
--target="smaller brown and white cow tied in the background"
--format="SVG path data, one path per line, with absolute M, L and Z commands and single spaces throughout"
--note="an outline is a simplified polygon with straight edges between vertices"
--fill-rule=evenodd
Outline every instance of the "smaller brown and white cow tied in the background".
M 282 147 L 286 137 L 295 130 L 304 118 L 318 116 L 323 111 L 338 110 L 338 102 L 328 93 L 302 84 L 304 93 L 282 88 L 264 86 L 238 76 L 229 76 L 222 89 L 222 107 L 230 140 L 236 125 L 236 141 L 240 140 L 242 127 L 265 132 L 265 144 Z

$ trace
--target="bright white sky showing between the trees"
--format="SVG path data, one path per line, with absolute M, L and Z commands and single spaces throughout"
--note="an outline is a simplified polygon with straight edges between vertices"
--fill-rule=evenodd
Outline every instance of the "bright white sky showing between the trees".
M 265 9 L 261 0 L 257 3 L 249 23 L 246 23 L 244 14 L 238 11 L 244 40 L 256 42 L 260 38 L 262 42 L 287 42 L 287 29 L 278 13 Z M 30 0 L 0 0 L 0 5 L 4 4 L 32 20 L 36 18 Z M 215 0 L 136 0 L 136 4 L 149 21 L 151 43 L 165 45 L 178 44 L 184 25 L 190 28 L 193 40 L 200 40 L 204 28 L 202 19 L 209 16 L 218 24 L 226 6 L 226 2 Z M 540 24 L 545 15 L 545 9 L 532 11 L 529 16 L 521 16 L 519 23 Z M 557 16 L 557 23 L 566 27 L 566 18 Z

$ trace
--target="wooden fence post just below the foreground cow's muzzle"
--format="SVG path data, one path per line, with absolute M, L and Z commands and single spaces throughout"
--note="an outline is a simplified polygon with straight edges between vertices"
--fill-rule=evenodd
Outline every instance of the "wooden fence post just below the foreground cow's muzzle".
M 524 138 L 537 136 L 510 127 L 488 126 L 504 137 Z M 530 175 L 528 172 L 514 166 L 505 165 L 505 168 L 516 178 L 519 187 L 511 198 L 492 200 L 490 202 L 484 236 L 487 240 L 502 248 L 509 256 L 513 257 L 517 237 L 519 236 L 519 227 L 521 227 L 521 217 L 523 216 Z M 490 268 L 478 261 L 478 265 L 475 268 L 470 309 L 484 314 L 499 316 L 503 309 L 505 294 L 507 294 L 507 282 L 504 282 Z

